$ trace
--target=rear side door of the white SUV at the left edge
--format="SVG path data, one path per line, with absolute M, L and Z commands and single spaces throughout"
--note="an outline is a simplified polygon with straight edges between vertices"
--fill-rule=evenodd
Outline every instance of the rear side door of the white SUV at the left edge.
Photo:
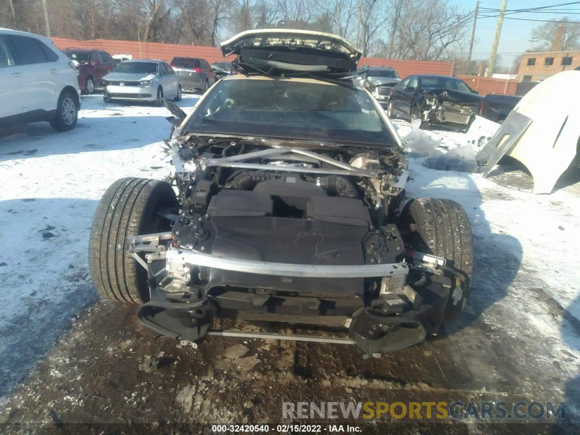
M 8 41 L 16 63 L 12 75 L 19 79 L 21 88 L 17 102 L 19 113 L 55 110 L 57 101 L 53 96 L 60 93 L 60 89 L 57 89 L 59 71 L 56 53 L 52 53 L 54 57 L 49 63 L 45 51 L 48 48 L 46 46 L 43 48 L 42 42 L 38 39 L 22 35 L 5 35 L 5 40 Z

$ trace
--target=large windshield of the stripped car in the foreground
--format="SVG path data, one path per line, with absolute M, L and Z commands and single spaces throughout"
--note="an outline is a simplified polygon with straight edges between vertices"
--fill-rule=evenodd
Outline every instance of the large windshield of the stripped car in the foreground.
M 220 81 L 183 132 L 395 143 L 367 92 L 314 79 Z

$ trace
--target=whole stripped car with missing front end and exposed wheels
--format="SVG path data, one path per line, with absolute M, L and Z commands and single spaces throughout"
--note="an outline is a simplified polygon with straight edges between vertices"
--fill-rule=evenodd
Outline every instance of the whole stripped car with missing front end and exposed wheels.
M 242 32 L 222 52 L 240 74 L 187 116 L 165 102 L 175 172 L 103 195 L 89 247 L 100 295 L 194 347 L 221 335 L 379 357 L 437 334 L 469 295 L 469 220 L 454 201 L 405 195 L 401 139 L 353 84 L 361 52 L 287 29 Z M 333 334 L 276 332 L 282 322 Z

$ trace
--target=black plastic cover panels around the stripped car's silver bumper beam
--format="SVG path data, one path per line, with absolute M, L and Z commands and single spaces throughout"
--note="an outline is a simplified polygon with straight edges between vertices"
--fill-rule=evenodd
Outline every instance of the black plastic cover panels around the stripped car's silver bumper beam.
M 296 219 L 272 216 L 273 198 L 223 190 L 212 198 L 204 218 L 178 222 L 173 234 L 188 249 L 222 258 L 332 266 L 400 260 L 398 231 L 394 226 L 370 231 L 368 208 L 361 200 L 311 197 L 306 218 Z M 214 268 L 208 291 L 216 287 L 362 296 L 364 278 L 280 277 Z

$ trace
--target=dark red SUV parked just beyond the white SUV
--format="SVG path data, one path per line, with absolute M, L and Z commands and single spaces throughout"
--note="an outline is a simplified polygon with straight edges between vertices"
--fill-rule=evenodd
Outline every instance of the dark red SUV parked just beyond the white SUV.
M 95 88 L 101 86 L 103 77 L 118 64 L 104 50 L 67 48 L 63 52 L 77 66 L 78 86 L 84 95 L 95 92 Z

